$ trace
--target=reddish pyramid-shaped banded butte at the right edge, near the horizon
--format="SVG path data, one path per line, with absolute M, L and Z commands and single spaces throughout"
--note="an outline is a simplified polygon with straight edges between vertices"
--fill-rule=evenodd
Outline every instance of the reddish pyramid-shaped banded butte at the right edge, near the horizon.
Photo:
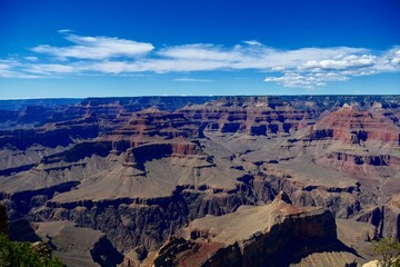
M 382 105 L 344 105 L 310 126 L 301 144 L 318 155 L 318 165 L 358 179 L 378 179 L 400 169 L 399 136 L 394 115 Z

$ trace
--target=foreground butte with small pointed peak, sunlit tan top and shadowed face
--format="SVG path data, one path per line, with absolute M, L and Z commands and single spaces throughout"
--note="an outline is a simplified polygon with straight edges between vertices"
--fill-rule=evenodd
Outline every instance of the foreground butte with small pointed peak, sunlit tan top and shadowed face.
M 287 201 L 287 202 L 286 202 Z M 154 266 L 288 266 L 290 255 L 337 245 L 332 214 L 292 206 L 284 194 L 261 207 L 190 222 L 159 249 Z M 283 253 L 284 251 L 284 253 Z

